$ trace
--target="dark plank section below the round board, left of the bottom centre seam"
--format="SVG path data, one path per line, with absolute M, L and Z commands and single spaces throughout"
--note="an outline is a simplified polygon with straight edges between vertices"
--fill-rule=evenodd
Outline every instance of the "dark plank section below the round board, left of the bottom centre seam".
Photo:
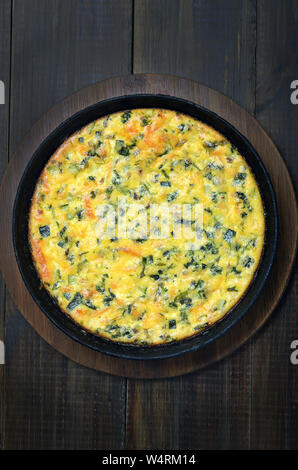
M 8 307 L 5 448 L 121 448 L 125 379 L 66 359 Z

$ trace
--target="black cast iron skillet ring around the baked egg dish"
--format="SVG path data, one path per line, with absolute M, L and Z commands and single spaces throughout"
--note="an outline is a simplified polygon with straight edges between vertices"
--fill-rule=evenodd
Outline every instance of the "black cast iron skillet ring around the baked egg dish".
M 157 346 L 117 343 L 84 331 L 58 307 L 41 283 L 33 265 L 28 242 L 28 215 L 31 198 L 48 159 L 74 132 L 107 114 L 133 108 L 167 108 L 188 114 L 209 124 L 223 134 L 246 159 L 259 185 L 266 217 L 263 255 L 258 270 L 245 295 L 219 322 L 190 338 Z M 270 272 L 277 243 L 277 209 L 272 185 L 254 148 L 231 124 L 215 113 L 184 99 L 167 95 L 137 94 L 107 99 L 85 108 L 55 129 L 40 145 L 28 163 L 20 181 L 13 211 L 13 243 L 18 266 L 33 299 L 45 315 L 64 333 L 84 346 L 101 353 L 127 359 L 165 359 L 195 351 L 214 341 L 232 328 L 252 306 L 263 289 Z

